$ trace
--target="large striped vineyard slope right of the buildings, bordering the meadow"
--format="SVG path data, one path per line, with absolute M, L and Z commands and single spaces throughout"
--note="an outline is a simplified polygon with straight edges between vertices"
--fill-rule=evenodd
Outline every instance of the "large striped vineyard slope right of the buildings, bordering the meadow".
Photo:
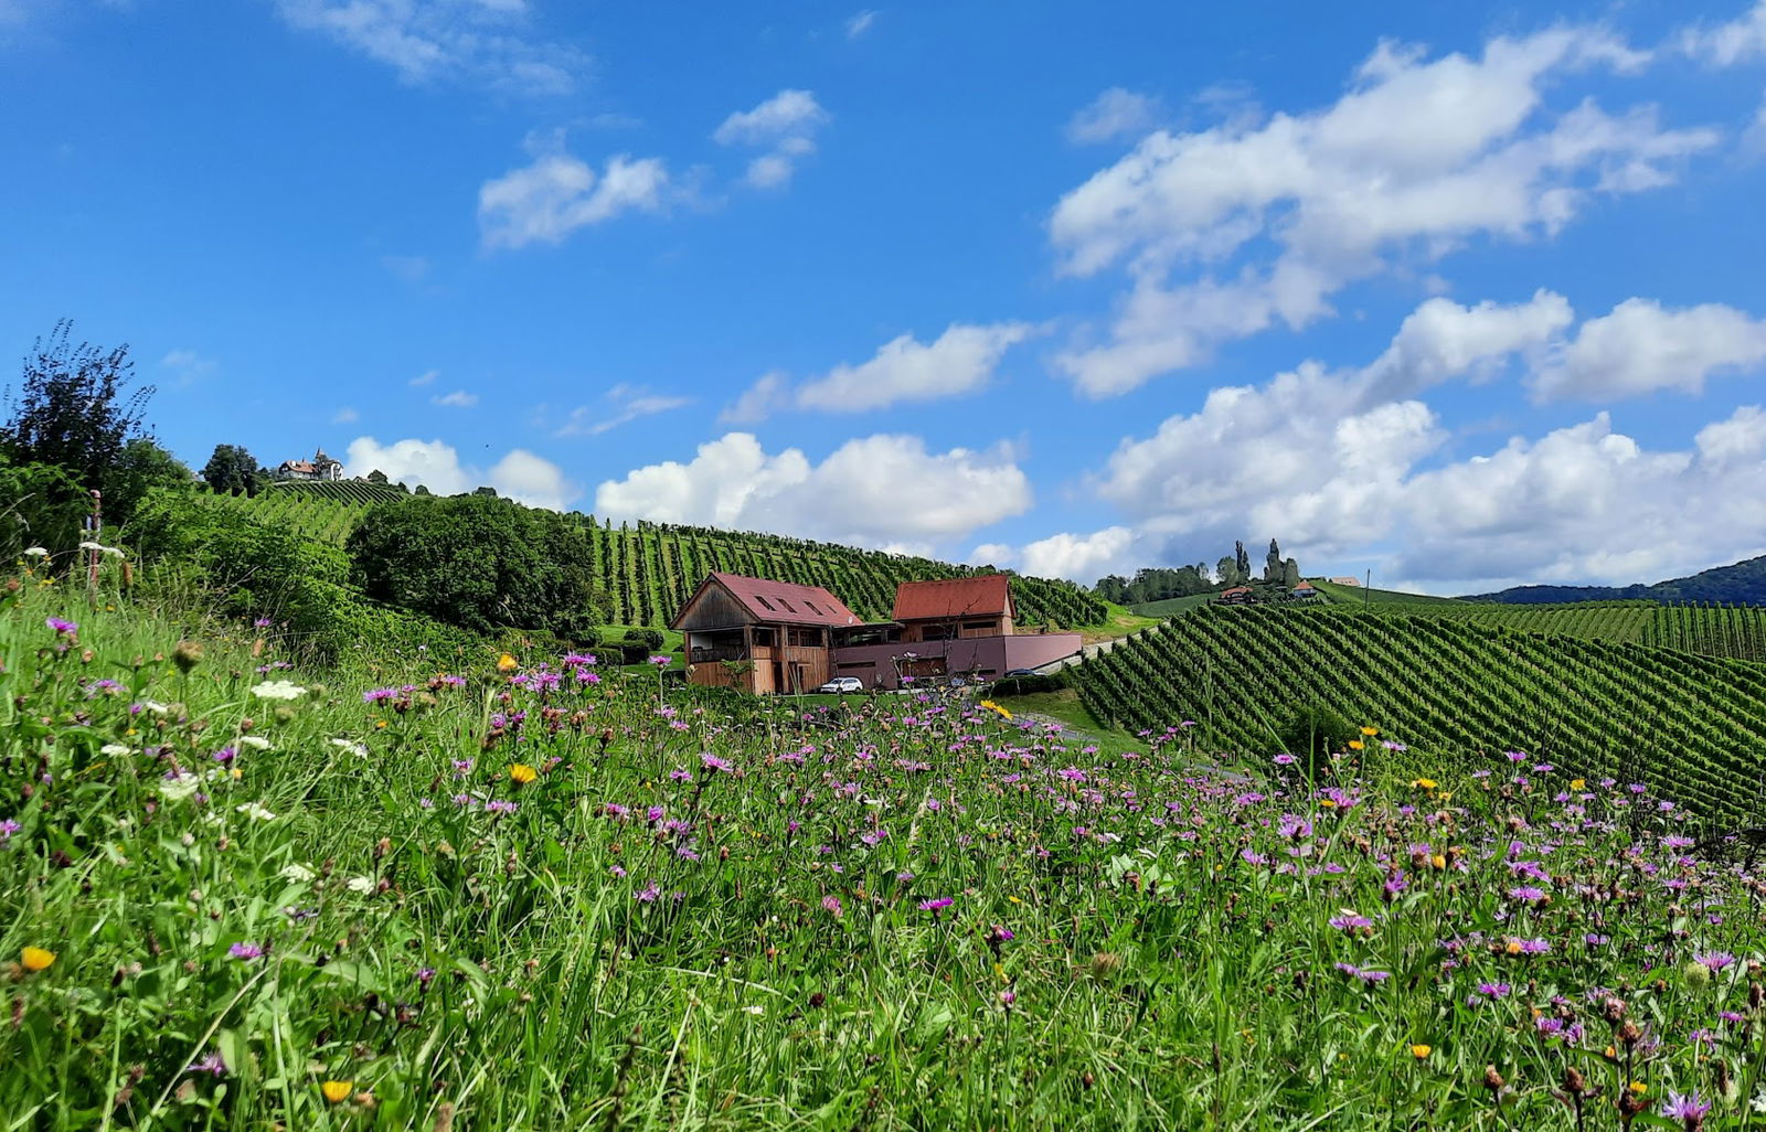
M 1275 754 L 1282 722 L 1317 703 L 1430 752 L 1526 751 L 1655 782 L 1711 818 L 1761 809 L 1766 666 L 1745 660 L 1455 616 L 1204 608 L 1074 671 L 1098 719 L 1194 721 L 1204 751 Z

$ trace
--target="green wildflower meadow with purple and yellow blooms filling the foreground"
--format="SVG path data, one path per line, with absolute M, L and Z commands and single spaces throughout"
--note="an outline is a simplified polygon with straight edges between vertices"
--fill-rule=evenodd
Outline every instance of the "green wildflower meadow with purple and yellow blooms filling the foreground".
M 1752 846 L 1649 781 L 281 650 L 5 595 L 0 1128 L 1766 1121 Z

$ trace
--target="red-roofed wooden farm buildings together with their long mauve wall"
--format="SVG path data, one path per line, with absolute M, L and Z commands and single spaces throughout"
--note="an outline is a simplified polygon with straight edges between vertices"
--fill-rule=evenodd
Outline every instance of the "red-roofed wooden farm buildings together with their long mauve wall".
M 1079 634 L 1014 632 L 1015 606 L 1005 574 L 904 581 L 894 618 L 860 622 L 821 586 L 713 572 L 669 629 L 682 630 L 687 678 L 749 692 L 802 692 L 834 676 L 869 689 L 902 678 L 991 680 L 1079 652 Z

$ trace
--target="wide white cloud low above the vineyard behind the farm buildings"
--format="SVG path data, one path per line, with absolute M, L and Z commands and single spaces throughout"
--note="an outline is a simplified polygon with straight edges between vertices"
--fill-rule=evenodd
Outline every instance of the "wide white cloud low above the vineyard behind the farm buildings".
M 608 480 L 595 514 L 705 523 L 860 546 L 929 549 L 1031 505 L 1030 480 L 1000 445 L 927 452 L 918 436 L 849 440 L 819 464 L 802 450 L 768 454 L 751 433 L 699 445 Z

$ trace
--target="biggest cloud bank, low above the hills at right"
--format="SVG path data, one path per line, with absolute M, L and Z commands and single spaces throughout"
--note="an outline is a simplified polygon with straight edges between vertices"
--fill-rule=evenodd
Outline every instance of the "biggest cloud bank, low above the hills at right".
M 1448 459 L 1453 436 L 1420 394 L 1513 369 L 1538 383 L 1572 321 L 1551 291 L 1508 306 L 1432 298 L 1369 366 L 1305 362 L 1215 389 L 1201 410 L 1125 440 L 1091 480 L 1132 523 L 1118 562 L 1187 562 L 1275 533 L 1302 563 L 1374 560 L 1388 577 L 1466 592 L 1657 579 L 1761 553 L 1766 493 L 1748 486 L 1766 450 L 1759 408 L 1706 426 L 1690 450 L 1648 450 L 1602 413 Z

